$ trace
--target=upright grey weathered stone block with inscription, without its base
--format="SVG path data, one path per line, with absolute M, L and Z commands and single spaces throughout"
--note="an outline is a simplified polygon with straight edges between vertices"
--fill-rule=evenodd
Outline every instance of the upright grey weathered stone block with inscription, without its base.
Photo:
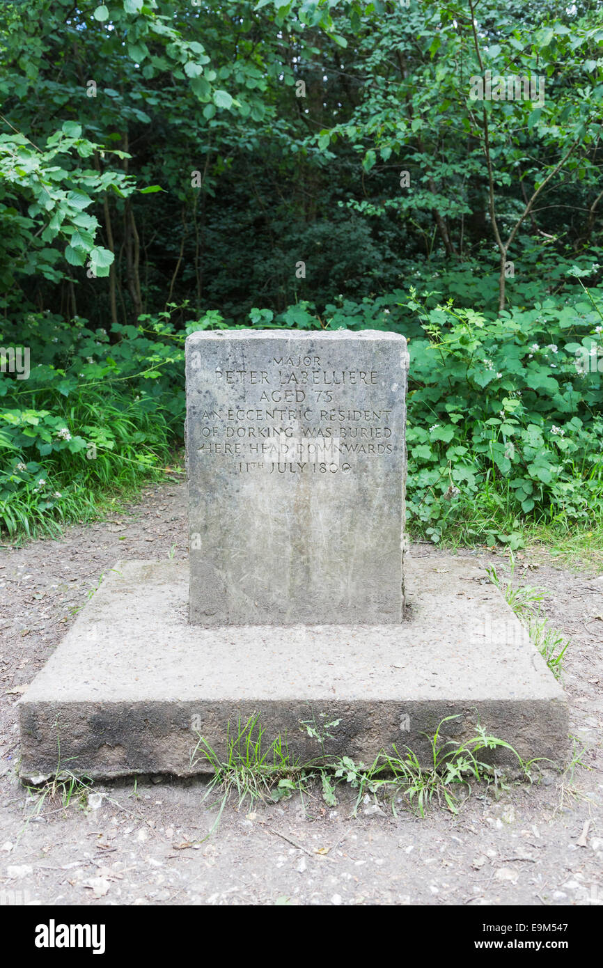
M 407 360 L 377 331 L 188 338 L 193 623 L 402 620 Z

